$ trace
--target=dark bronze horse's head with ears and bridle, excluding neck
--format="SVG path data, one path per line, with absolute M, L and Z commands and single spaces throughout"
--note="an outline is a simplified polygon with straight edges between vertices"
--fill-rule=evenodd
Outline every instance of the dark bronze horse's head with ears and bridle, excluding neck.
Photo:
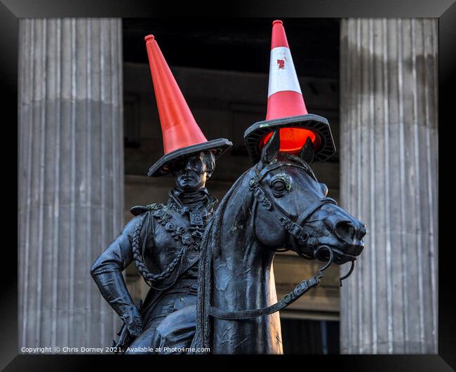
M 276 131 L 264 148 L 250 180 L 255 195 L 253 224 L 264 246 L 288 248 L 305 258 L 342 264 L 363 251 L 366 227 L 326 197 L 328 187 L 311 170 L 314 149 L 310 140 L 299 156 L 279 152 Z

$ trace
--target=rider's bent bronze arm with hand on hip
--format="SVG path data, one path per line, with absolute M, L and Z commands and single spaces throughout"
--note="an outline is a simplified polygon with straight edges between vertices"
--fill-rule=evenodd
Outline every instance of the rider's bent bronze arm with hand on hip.
M 141 316 L 128 292 L 122 271 L 133 260 L 131 239 L 142 216 L 132 218 L 117 237 L 93 263 L 90 274 L 109 305 L 126 322 L 128 331 L 138 336 L 142 330 Z

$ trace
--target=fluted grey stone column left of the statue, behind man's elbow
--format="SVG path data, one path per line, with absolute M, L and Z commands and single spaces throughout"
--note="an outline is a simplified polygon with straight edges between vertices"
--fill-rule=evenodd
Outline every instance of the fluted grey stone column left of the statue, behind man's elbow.
M 90 266 L 123 225 L 120 19 L 19 21 L 20 347 L 109 345 Z

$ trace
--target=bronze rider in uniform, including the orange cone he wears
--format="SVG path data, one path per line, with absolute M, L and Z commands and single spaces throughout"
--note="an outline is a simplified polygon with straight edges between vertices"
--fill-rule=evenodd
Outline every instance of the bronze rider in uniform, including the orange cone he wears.
M 185 352 L 195 331 L 199 247 L 217 203 L 206 181 L 215 158 L 232 143 L 206 140 L 154 36 L 146 36 L 146 46 L 165 151 L 148 175 L 172 174 L 176 186 L 167 204 L 130 209 L 135 217 L 95 260 L 90 273 L 123 320 L 116 345 L 123 352 Z M 132 261 L 151 286 L 140 306 L 133 303 L 122 276 Z

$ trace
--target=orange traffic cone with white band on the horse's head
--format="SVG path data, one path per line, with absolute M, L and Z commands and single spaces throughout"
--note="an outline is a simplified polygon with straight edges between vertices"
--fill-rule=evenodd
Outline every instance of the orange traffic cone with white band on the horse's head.
M 314 145 L 316 161 L 326 160 L 335 152 L 328 120 L 307 112 L 281 20 L 272 22 L 266 120 L 253 124 L 244 133 L 254 163 L 260 159 L 262 147 L 277 129 L 281 152 L 297 154 L 307 138 Z

